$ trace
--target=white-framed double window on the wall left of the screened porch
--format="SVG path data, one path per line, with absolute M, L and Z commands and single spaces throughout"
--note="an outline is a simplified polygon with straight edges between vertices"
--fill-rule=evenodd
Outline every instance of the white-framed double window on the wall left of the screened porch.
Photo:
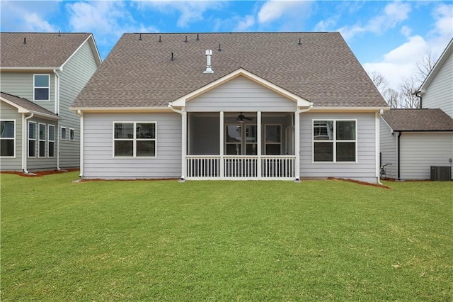
M 156 157 L 156 123 L 113 123 L 114 157 Z

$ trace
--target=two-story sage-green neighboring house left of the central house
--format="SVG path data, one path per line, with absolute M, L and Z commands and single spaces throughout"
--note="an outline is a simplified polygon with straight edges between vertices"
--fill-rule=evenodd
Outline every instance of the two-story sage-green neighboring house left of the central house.
M 1 170 L 79 167 L 69 105 L 101 65 L 91 33 L 0 33 Z

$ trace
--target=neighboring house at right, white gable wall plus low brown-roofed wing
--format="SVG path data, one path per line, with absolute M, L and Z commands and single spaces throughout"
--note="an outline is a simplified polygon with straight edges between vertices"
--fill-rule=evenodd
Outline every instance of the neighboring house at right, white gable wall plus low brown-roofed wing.
M 443 169 L 453 179 L 453 39 L 420 89 L 422 109 L 391 109 L 382 116 L 380 142 L 385 177 L 433 179 Z

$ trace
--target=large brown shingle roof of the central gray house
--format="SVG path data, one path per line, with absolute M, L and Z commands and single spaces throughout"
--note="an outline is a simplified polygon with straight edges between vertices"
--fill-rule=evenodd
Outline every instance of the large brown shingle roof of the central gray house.
M 168 106 L 239 69 L 314 107 L 387 107 L 340 33 L 125 33 L 72 108 Z

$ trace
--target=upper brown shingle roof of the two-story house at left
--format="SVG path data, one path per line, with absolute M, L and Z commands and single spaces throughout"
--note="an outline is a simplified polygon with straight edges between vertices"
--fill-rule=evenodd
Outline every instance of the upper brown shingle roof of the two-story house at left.
M 63 67 L 86 40 L 101 64 L 91 33 L 0 33 L 2 69 Z

